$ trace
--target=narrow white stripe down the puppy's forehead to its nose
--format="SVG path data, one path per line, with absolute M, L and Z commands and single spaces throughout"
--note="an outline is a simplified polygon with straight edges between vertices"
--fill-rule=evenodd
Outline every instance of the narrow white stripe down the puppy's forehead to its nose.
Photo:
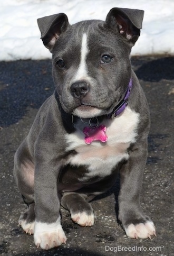
M 87 45 L 87 35 L 84 33 L 82 36 L 82 45 L 81 45 L 81 60 L 78 71 L 75 74 L 74 81 L 84 79 L 88 76 L 88 69 L 86 66 L 86 55 L 88 54 L 89 49 Z

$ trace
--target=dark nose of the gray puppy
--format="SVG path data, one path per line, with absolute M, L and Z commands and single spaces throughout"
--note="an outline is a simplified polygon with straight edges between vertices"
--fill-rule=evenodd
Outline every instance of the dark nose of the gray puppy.
M 76 98 L 84 97 L 89 92 L 89 84 L 85 81 L 79 81 L 71 85 L 71 92 Z

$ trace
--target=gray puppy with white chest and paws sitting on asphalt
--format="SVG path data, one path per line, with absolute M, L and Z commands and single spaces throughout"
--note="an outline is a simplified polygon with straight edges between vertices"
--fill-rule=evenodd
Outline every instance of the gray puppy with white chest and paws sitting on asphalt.
M 142 19 L 143 11 L 123 8 L 113 8 L 105 22 L 70 25 L 63 13 L 38 19 L 53 56 L 55 92 L 15 154 L 14 177 L 28 205 L 19 223 L 43 249 L 66 242 L 60 204 L 74 222 L 93 225 L 88 202 L 111 188 L 118 172 L 119 220 L 125 233 L 133 238 L 156 235 L 139 203 L 150 121 L 129 57 Z M 121 109 L 130 83 L 129 100 L 118 114 L 115 109 Z M 105 126 L 107 142 L 86 144 L 83 129 L 90 125 L 94 132 L 95 126 Z

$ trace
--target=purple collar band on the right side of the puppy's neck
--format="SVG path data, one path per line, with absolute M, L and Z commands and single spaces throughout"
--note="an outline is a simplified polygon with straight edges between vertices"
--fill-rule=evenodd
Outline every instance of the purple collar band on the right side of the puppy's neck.
M 128 89 L 127 89 L 127 92 L 125 93 L 124 98 L 121 100 L 121 102 L 116 107 L 114 107 L 112 113 L 109 114 L 108 118 L 113 119 L 116 116 L 120 115 L 121 112 L 123 112 L 125 107 L 128 105 L 128 98 L 130 96 L 131 88 L 132 88 L 132 78 L 129 81 Z

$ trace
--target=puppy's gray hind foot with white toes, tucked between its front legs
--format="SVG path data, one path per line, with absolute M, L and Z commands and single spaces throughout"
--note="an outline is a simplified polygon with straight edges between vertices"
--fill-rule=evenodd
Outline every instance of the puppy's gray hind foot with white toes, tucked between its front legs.
M 64 193 L 61 205 L 68 209 L 73 222 L 80 226 L 92 226 L 95 221 L 92 206 L 86 202 L 87 196 L 78 193 Z

